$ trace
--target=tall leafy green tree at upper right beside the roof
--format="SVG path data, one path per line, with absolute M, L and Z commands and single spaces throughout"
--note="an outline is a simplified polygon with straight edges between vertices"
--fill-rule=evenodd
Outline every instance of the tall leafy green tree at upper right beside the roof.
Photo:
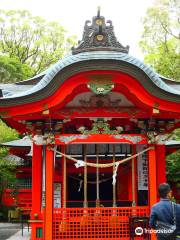
M 140 47 L 158 73 L 180 80 L 180 1 L 156 0 L 143 19 Z

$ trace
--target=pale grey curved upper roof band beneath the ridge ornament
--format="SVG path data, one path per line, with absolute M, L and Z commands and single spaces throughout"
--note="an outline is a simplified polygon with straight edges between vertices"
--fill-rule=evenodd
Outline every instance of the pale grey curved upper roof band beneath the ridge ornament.
M 59 73 L 63 68 L 70 66 L 74 63 L 86 61 L 86 60 L 118 60 L 124 61 L 126 63 L 132 64 L 139 69 L 141 69 L 150 79 L 151 81 L 160 89 L 163 89 L 166 92 L 180 95 L 180 91 L 168 86 L 161 77 L 155 73 L 149 66 L 145 65 L 143 62 L 138 60 L 135 57 L 130 56 L 126 53 L 113 52 L 113 51 L 94 51 L 94 52 L 83 52 L 76 55 L 70 55 L 65 57 L 63 60 L 58 61 L 55 65 L 53 65 L 49 70 L 46 71 L 46 74 L 39 81 L 38 84 L 33 86 L 31 89 L 19 93 L 14 94 L 9 97 L 5 97 L 6 99 L 10 98 L 18 98 L 27 95 L 31 95 L 33 93 L 39 92 L 43 88 L 45 88 L 51 80 Z

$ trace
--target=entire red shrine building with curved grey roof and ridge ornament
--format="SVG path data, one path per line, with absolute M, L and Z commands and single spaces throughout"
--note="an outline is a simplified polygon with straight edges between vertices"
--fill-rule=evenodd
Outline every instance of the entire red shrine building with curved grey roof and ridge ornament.
M 98 11 L 72 55 L 4 85 L 2 119 L 33 141 L 32 240 L 126 240 L 157 201 L 180 84 L 128 52 Z

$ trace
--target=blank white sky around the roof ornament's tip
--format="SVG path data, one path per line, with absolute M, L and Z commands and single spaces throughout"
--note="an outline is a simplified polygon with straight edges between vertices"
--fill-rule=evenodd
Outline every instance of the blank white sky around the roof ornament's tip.
M 154 0 L 0 0 L 0 9 L 27 9 L 32 15 L 47 21 L 58 21 L 69 35 L 81 40 L 84 23 L 97 14 L 112 20 L 117 39 L 124 46 L 129 45 L 129 53 L 143 60 L 138 46 L 143 31 L 142 18 Z

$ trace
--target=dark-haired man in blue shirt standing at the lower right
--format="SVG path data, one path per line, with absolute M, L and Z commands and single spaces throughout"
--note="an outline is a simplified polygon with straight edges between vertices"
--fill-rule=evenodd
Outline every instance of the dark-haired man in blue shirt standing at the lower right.
M 168 224 L 174 224 L 173 222 L 173 208 L 172 208 L 172 202 L 170 199 L 172 198 L 172 191 L 167 183 L 162 183 L 159 185 L 158 188 L 159 195 L 161 197 L 160 201 L 153 205 L 151 209 L 151 216 L 150 216 L 150 222 L 149 225 L 151 228 L 156 228 L 156 221 L 162 221 L 164 223 Z M 169 240 L 179 239 L 180 234 L 180 205 L 176 204 L 176 226 L 177 226 L 177 237 L 174 237 Z M 160 237 L 157 234 L 158 240 L 163 240 L 166 238 Z

